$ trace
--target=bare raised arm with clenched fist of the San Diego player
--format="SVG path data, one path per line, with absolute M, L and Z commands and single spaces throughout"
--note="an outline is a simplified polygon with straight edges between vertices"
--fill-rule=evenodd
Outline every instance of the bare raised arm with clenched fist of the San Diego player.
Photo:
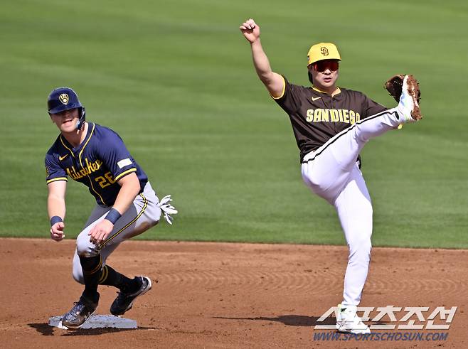
M 260 43 L 260 26 L 250 18 L 239 27 L 252 49 L 252 59 L 258 77 L 273 97 L 280 97 L 284 91 L 284 79 L 280 74 L 274 73 L 270 62 Z

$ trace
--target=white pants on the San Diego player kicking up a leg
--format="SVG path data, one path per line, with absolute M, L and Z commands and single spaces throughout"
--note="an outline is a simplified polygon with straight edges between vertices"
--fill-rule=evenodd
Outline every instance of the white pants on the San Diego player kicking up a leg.
M 356 159 L 371 138 L 397 128 L 402 120 L 396 108 L 362 119 L 302 161 L 304 182 L 334 205 L 349 247 L 344 306 L 357 306 L 361 301 L 371 260 L 372 203 Z

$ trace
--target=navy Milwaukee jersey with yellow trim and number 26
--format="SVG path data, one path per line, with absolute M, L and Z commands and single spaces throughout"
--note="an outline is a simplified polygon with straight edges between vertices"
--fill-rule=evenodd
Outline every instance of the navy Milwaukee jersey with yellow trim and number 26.
M 68 181 L 85 184 L 99 205 L 112 206 L 120 186 L 117 181 L 137 173 L 140 193 L 148 181 L 146 173 L 129 154 L 115 131 L 88 122 L 85 140 L 73 148 L 61 134 L 46 154 L 47 183 Z

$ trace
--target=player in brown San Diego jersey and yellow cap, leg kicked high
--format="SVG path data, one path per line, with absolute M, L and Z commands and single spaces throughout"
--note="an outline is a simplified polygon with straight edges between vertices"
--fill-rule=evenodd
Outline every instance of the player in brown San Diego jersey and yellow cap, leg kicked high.
M 421 118 L 418 83 L 406 75 L 398 107 L 388 109 L 361 92 L 337 87 L 338 49 L 333 43 L 318 43 L 310 48 L 307 61 L 312 87 L 293 85 L 272 71 L 255 21 L 248 19 L 240 31 L 250 42 L 258 77 L 291 119 L 304 182 L 334 205 L 344 230 L 349 260 L 336 329 L 369 333 L 356 315 L 368 274 L 372 235 L 371 198 L 358 156 L 370 139 Z

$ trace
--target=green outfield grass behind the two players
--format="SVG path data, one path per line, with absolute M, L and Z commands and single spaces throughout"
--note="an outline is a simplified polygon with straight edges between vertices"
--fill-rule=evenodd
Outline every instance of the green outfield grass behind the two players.
M 307 85 L 312 43 L 341 51 L 341 86 L 388 105 L 413 73 L 425 119 L 371 141 L 363 173 L 373 244 L 468 247 L 465 1 L 10 1 L 0 4 L 0 236 L 48 237 L 43 158 L 58 134 L 53 87 L 119 132 L 180 210 L 139 238 L 344 244 L 334 209 L 302 183 L 287 115 L 252 68 L 252 16 L 272 68 Z M 69 182 L 75 237 L 93 207 Z

